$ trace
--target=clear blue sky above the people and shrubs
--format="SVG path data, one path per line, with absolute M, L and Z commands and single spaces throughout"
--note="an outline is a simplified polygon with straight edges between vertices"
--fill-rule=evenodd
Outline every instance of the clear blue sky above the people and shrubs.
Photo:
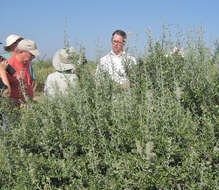
M 181 30 L 202 26 L 210 40 L 219 37 L 218 0 L 0 0 L 0 7 L 0 41 L 13 33 L 33 39 L 41 58 L 64 46 L 64 30 L 69 44 L 84 46 L 92 60 L 110 50 L 116 29 L 130 32 L 139 49 L 147 27 L 159 36 L 162 23 Z

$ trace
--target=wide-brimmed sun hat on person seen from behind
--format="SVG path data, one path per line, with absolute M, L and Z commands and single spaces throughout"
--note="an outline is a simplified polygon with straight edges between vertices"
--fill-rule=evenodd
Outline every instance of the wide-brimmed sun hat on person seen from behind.
M 59 49 L 53 56 L 53 67 L 57 71 L 67 71 L 75 68 L 70 59 L 75 52 L 73 47 Z

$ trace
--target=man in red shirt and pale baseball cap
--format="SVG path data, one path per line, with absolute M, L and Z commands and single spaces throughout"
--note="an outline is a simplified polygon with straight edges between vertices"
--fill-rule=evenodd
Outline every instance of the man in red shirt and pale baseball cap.
M 15 73 L 7 75 L 11 85 L 10 98 L 15 105 L 20 106 L 26 102 L 28 96 L 33 99 L 33 86 L 31 84 L 31 75 L 29 71 L 30 62 L 40 54 L 34 41 L 29 39 L 21 40 L 16 49 L 16 54 L 8 59 L 8 63 L 15 69 Z

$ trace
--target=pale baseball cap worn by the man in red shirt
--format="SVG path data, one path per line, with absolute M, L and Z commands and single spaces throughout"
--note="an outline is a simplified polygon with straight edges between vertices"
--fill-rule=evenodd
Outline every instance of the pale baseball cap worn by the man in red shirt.
M 28 51 L 35 57 L 40 54 L 39 50 L 37 49 L 36 43 L 33 40 L 23 39 L 18 43 L 17 48 L 19 50 Z

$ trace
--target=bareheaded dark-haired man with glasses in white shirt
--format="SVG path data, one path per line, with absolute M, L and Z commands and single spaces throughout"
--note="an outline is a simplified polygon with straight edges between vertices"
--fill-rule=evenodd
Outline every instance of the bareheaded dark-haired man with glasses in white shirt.
M 100 59 L 100 63 L 96 70 L 97 80 L 101 80 L 101 75 L 103 76 L 104 73 L 107 73 L 121 88 L 131 86 L 127 72 L 131 66 L 136 64 L 136 59 L 123 50 L 126 38 L 127 35 L 122 30 L 113 32 L 112 50 Z

